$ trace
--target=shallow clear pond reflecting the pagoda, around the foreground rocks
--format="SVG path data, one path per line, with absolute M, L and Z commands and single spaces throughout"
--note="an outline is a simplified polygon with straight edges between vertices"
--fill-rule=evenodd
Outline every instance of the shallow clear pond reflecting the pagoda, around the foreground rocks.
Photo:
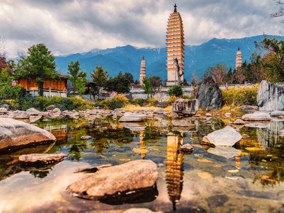
M 187 118 L 190 119 L 190 118 Z M 0 212 L 121 212 L 147 207 L 163 212 L 279 212 L 284 211 L 284 123 L 238 126 L 242 138 L 234 148 L 202 145 L 202 137 L 226 126 L 211 119 L 207 125 L 191 120 L 194 129 L 170 128 L 168 121 L 129 124 L 112 120 L 68 119 L 35 122 L 57 138 L 42 144 L 0 153 Z M 83 135 L 92 136 L 82 140 Z M 191 144 L 194 151 L 177 149 Z M 21 154 L 67 153 L 56 165 L 26 167 Z M 158 165 L 157 190 L 139 199 L 99 202 L 80 199 L 65 189 L 83 177 L 78 168 L 150 159 Z

